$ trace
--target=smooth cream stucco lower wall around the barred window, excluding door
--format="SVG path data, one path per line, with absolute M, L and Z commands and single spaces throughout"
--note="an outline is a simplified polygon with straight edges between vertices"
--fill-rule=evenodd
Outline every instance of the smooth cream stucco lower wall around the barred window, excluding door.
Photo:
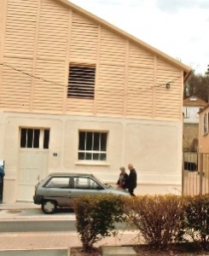
M 91 172 L 103 182 L 115 184 L 119 167 L 132 163 L 138 173 L 138 193 L 146 193 L 152 185 L 152 193 L 154 189 L 158 193 L 161 188 L 163 193 L 181 187 L 181 150 L 178 148 L 181 148 L 182 125 L 177 122 L 18 113 L 4 113 L 4 117 L 7 132 L 1 137 L 1 143 L 5 144 L 5 200 L 17 200 L 19 127 L 27 125 L 50 129 L 48 172 Z M 106 162 L 78 160 L 79 129 L 108 131 Z

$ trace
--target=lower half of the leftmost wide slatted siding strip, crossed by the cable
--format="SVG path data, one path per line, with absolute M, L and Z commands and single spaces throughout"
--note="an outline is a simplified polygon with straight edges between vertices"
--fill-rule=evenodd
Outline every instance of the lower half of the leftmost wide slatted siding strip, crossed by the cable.
M 3 67 L 1 108 L 29 110 L 32 90 L 32 77 L 30 76 L 32 61 L 4 58 L 4 63 L 9 67 Z

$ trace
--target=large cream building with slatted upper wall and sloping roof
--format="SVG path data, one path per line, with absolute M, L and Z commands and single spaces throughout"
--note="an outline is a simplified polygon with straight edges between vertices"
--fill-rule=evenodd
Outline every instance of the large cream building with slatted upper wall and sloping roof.
M 66 0 L 1 0 L 3 201 L 32 201 L 49 172 L 114 185 L 128 163 L 137 194 L 181 189 L 190 71 Z

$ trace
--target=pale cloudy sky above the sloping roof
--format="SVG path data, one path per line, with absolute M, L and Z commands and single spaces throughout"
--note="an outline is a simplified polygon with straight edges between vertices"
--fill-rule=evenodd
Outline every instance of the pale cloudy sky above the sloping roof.
M 204 75 L 209 0 L 70 0 Z

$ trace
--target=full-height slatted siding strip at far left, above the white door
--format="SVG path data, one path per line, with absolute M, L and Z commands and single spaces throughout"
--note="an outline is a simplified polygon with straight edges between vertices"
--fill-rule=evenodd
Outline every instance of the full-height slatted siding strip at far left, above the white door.
M 7 66 L 3 66 L 0 108 L 28 111 L 38 2 L 11 0 L 7 3 L 3 52 L 3 63 Z

